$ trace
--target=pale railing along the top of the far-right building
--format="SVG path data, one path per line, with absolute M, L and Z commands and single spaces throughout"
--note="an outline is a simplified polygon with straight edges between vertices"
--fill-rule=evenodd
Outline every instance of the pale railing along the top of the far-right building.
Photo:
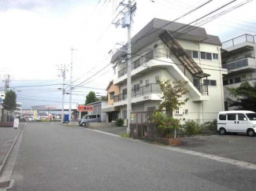
M 236 46 L 236 45 L 238 45 L 240 43 L 243 43 L 243 42 L 255 43 L 254 36 L 253 35 L 247 35 L 247 34 L 238 36 L 235 39 L 230 39 L 228 41 L 222 42 L 222 48 L 226 49 L 226 48 L 229 48 L 229 47 L 232 47 L 232 46 Z

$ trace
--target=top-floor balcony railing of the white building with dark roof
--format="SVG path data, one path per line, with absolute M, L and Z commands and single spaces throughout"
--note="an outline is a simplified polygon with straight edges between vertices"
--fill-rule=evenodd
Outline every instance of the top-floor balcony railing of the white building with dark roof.
M 143 57 L 140 57 L 136 61 L 132 62 L 132 70 L 135 68 L 139 68 L 142 64 L 146 63 L 147 61 L 152 60 L 155 57 L 170 57 L 170 50 L 168 49 L 157 49 L 151 50 L 150 52 L 146 53 Z M 118 78 L 125 75 L 127 73 L 127 67 L 122 68 L 118 71 Z

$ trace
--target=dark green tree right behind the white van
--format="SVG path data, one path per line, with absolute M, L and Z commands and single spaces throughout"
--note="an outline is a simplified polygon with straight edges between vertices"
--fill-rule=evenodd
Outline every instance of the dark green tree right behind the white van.
M 231 96 L 236 100 L 227 98 L 228 106 L 237 110 L 250 110 L 256 112 L 256 83 L 251 86 L 250 83 L 242 83 L 239 87 L 228 88 Z

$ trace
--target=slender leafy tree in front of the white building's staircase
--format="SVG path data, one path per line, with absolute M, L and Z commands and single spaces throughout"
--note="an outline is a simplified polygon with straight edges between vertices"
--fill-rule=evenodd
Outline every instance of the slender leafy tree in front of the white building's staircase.
M 159 110 L 162 111 L 165 109 L 165 113 L 167 118 L 169 118 L 169 127 L 174 128 L 174 138 L 176 138 L 176 120 L 173 120 L 173 110 L 179 109 L 181 105 L 185 105 L 188 101 L 188 98 L 186 98 L 184 101 L 181 101 L 180 98 L 183 97 L 184 94 L 188 93 L 187 88 L 185 86 L 187 85 L 187 82 L 173 82 L 173 85 L 171 81 L 164 80 L 159 82 L 162 96 L 161 99 L 163 101 L 159 104 Z M 173 125 L 175 123 L 175 125 Z

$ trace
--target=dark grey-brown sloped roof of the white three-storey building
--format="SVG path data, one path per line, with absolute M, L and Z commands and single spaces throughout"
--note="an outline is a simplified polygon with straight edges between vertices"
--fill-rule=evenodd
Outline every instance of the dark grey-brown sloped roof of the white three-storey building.
M 217 36 L 207 35 L 206 29 L 204 28 L 195 28 L 194 26 L 187 24 L 180 24 L 169 20 L 154 18 L 132 37 L 132 53 L 136 53 L 144 46 L 150 45 L 158 40 L 159 35 L 161 35 L 164 31 L 170 31 L 171 33 L 173 32 L 173 35 L 177 36 L 176 39 L 221 45 L 220 39 Z M 125 50 L 125 47 L 121 48 L 121 50 L 122 49 Z M 117 53 L 113 54 L 111 63 L 114 63 L 118 57 L 125 54 L 125 52 L 121 50 L 118 50 Z

